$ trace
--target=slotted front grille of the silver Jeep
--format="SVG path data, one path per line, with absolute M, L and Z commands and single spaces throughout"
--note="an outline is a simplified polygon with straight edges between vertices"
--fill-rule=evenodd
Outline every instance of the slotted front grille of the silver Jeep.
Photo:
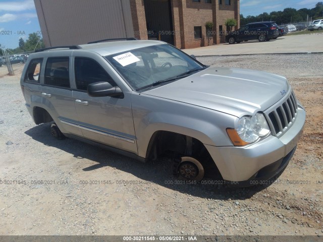
M 295 94 L 292 94 L 286 99 L 286 101 L 278 106 L 274 111 L 268 114 L 270 119 L 270 126 L 272 131 L 278 135 L 280 132 L 284 132 L 295 120 L 297 114 L 297 101 Z

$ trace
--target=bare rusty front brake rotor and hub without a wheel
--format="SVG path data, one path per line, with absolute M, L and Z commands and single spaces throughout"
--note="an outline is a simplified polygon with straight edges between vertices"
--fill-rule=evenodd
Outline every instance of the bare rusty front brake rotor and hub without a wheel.
M 185 180 L 199 182 L 204 177 L 204 167 L 197 159 L 185 156 L 180 159 L 178 174 Z

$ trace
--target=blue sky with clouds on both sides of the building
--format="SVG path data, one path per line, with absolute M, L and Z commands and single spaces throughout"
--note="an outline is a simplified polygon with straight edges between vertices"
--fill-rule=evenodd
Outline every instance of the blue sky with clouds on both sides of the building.
M 240 13 L 247 17 L 248 15 L 256 16 L 263 12 L 283 11 L 285 8 L 312 9 L 320 1 L 240 0 Z M 26 40 L 28 39 L 28 34 L 33 32 L 41 34 L 33 0 L 0 0 L 1 47 L 16 48 L 20 37 Z

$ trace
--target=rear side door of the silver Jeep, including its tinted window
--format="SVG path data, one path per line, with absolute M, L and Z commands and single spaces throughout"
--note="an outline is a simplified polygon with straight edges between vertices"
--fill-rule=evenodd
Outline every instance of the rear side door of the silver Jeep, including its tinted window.
M 81 130 L 71 124 L 77 120 L 70 84 L 70 57 L 48 57 L 46 61 L 42 102 L 63 133 L 82 136 Z

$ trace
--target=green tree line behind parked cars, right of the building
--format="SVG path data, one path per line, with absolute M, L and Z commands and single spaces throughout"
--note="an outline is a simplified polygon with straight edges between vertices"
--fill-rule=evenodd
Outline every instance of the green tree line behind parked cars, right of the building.
M 288 24 L 288 23 L 298 23 L 306 22 L 307 16 L 313 20 L 323 19 L 323 2 L 318 2 L 315 8 L 312 9 L 293 9 L 286 8 L 284 11 L 273 11 L 270 14 L 262 13 L 258 16 L 247 16 L 244 17 L 240 14 L 240 25 L 245 25 L 253 22 L 262 21 L 275 21 L 278 25 Z

